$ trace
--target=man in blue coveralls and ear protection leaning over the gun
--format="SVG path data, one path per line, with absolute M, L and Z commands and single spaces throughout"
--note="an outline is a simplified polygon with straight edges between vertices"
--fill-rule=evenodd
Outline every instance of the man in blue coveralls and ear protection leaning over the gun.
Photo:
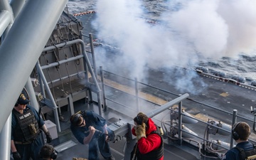
M 70 129 L 81 144 L 89 144 L 89 160 L 100 160 L 98 151 L 106 160 L 114 160 L 108 142 L 106 119 L 93 111 L 84 111 L 70 117 Z

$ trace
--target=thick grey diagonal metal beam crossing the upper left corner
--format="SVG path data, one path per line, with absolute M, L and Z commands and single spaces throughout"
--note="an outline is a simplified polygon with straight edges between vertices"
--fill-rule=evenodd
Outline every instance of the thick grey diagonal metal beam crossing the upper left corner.
M 0 46 L 0 131 L 68 0 L 29 0 Z M 47 25 L 46 25 L 47 24 Z

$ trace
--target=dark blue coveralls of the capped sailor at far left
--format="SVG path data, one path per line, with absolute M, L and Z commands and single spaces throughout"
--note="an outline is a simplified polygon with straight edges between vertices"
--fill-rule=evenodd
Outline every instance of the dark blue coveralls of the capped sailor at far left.
M 29 110 L 33 111 L 33 114 L 35 115 L 35 118 L 38 122 L 38 127 L 41 128 L 43 124 L 45 124 L 45 122 L 33 107 L 31 107 L 30 105 L 26 105 L 26 109 L 23 110 L 23 114 L 26 114 L 26 112 L 28 112 Z M 12 112 L 18 112 L 18 111 L 13 109 Z M 11 140 L 14 140 L 14 142 L 17 141 L 16 137 L 14 137 L 14 130 L 17 127 L 20 127 L 20 126 L 18 124 L 18 120 L 16 116 L 13 113 L 11 117 Z M 20 139 L 23 139 L 23 141 L 25 141 L 25 137 L 18 137 L 18 138 L 19 138 L 18 142 L 21 142 Z M 15 144 L 15 146 L 18 153 L 21 155 L 21 160 L 29 160 L 30 158 L 32 158 L 33 160 L 38 160 L 40 159 L 39 151 L 43 146 L 41 134 L 38 134 L 38 137 L 36 137 L 36 139 L 31 144 Z

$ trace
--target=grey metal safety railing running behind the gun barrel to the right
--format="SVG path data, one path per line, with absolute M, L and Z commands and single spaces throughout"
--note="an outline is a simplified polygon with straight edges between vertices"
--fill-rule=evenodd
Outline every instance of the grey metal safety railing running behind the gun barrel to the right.
M 100 76 L 102 78 L 104 105 L 106 107 L 111 106 L 113 110 L 124 110 L 124 114 L 127 109 L 131 113 L 137 113 L 144 110 L 141 104 L 145 103 L 153 106 L 151 108 L 149 107 L 148 110 L 153 110 L 152 108 L 155 109 L 156 107 L 163 105 L 161 102 L 159 103 L 155 100 L 151 100 L 151 98 L 145 97 L 144 94 L 154 95 L 154 97 L 161 99 L 162 102 L 169 102 L 180 96 L 174 92 L 148 85 L 144 82 L 139 82 L 137 81 L 137 78 L 132 80 L 131 78 L 126 78 L 122 75 L 110 73 L 107 70 L 103 70 L 102 67 L 100 67 Z M 117 94 L 113 95 L 115 92 Z M 122 95 L 129 97 L 127 98 L 129 99 L 128 103 L 124 102 L 123 98 L 119 98 Z M 107 103 L 110 103 L 110 105 Z M 200 119 L 193 116 L 193 114 L 188 114 L 188 112 L 184 110 L 193 112 L 193 107 L 191 108 L 188 106 L 197 107 L 200 111 L 195 113 L 195 115 L 202 114 L 202 116 L 207 118 Z M 216 116 L 210 117 L 201 110 L 215 112 Z M 165 137 L 169 139 L 169 143 L 178 142 L 178 144 L 181 145 L 182 143 L 187 142 L 196 146 L 201 156 L 211 159 L 220 159 L 221 156 L 225 154 L 225 151 L 234 146 L 231 128 L 238 119 L 239 121 L 244 121 L 248 124 L 253 124 L 254 122 L 253 119 L 238 115 L 237 110 L 228 112 L 221 110 L 218 107 L 199 102 L 198 100 L 193 100 L 190 97 L 183 100 L 178 106 L 170 107 L 165 114 L 170 115 L 168 119 L 164 119 L 164 117 L 156 117 L 155 120 L 161 123 L 161 127 L 164 128 Z M 225 115 L 225 119 L 223 119 L 222 115 Z M 182 119 L 195 120 L 196 123 L 186 124 Z M 186 124 L 186 127 L 184 124 Z M 213 137 L 210 137 L 211 135 L 213 135 Z M 250 141 L 255 142 L 253 139 L 254 136 L 251 135 Z M 203 151 L 206 151 L 207 154 L 205 152 L 203 153 L 202 149 Z

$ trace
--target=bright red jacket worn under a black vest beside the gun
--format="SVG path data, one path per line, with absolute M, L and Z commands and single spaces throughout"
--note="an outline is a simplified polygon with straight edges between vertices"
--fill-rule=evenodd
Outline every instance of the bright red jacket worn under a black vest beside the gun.
M 137 147 L 141 154 L 147 154 L 154 149 L 158 149 L 161 145 L 161 137 L 159 137 L 158 134 L 150 134 L 152 131 L 156 131 L 156 126 L 154 125 L 154 122 L 151 118 L 149 118 L 149 122 L 147 125 L 148 126 L 146 128 L 146 138 L 142 137 L 137 142 Z M 132 128 L 132 134 L 136 136 L 134 128 Z M 164 160 L 164 156 L 162 156 L 159 160 Z

